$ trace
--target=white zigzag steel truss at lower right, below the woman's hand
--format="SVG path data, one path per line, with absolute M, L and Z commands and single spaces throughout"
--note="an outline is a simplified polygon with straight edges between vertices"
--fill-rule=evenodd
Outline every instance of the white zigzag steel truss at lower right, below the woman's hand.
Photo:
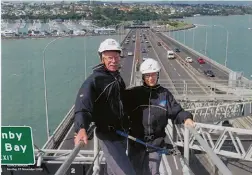
M 169 122 L 169 125 L 166 127 L 166 133 L 170 135 L 170 138 L 173 139 L 173 142 L 177 146 L 183 147 L 187 144 L 189 147 L 184 147 L 185 149 L 190 148 L 207 152 L 208 149 L 206 150 L 195 137 L 195 132 L 197 132 L 214 153 L 229 158 L 252 161 L 251 129 L 196 123 L 195 131 L 191 135 L 188 135 L 188 133 L 184 134 L 185 132 L 188 131 L 185 131 L 184 127 L 172 125 L 171 122 Z M 243 140 L 247 140 L 248 142 L 244 144 Z

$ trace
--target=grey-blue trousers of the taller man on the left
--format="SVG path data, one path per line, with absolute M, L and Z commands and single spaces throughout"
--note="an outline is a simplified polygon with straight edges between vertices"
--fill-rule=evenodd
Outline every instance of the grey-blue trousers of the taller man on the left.
M 126 155 L 126 142 L 99 140 L 107 163 L 108 175 L 136 175 Z

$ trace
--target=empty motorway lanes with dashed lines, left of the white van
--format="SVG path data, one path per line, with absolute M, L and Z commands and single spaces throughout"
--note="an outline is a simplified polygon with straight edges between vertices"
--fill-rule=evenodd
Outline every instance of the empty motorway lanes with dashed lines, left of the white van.
M 164 47 L 157 45 L 157 38 L 151 35 L 150 41 L 159 55 L 160 61 L 165 65 L 166 71 L 171 77 L 174 86 L 178 89 L 179 94 L 186 89 L 187 94 L 206 94 L 206 90 L 199 81 L 193 77 L 176 59 L 167 59 L 167 51 Z

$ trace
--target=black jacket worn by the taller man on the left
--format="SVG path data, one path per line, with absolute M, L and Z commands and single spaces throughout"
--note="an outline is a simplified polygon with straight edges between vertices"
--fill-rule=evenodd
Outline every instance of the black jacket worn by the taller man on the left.
M 124 90 L 125 83 L 118 71 L 110 72 L 103 64 L 96 66 L 77 95 L 75 132 L 80 128 L 87 130 L 91 122 L 95 122 L 97 133 L 109 133 L 108 126 L 122 129 L 124 109 L 121 92 Z M 109 136 L 101 139 L 109 139 Z

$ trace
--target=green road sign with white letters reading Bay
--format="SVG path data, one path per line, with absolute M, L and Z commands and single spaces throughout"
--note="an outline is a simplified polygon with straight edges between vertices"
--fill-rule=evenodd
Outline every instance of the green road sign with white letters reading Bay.
M 34 165 L 32 129 L 29 126 L 1 126 L 2 165 Z

